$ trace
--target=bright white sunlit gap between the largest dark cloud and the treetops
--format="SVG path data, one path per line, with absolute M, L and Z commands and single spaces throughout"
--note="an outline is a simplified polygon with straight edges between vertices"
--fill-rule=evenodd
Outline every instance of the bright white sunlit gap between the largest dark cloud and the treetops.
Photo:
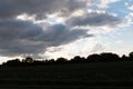
M 74 56 L 88 57 L 91 53 L 101 52 L 101 49 L 95 49 L 98 44 L 99 44 L 99 39 L 96 37 L 85 38 L 85 39 L 80 39 L 73 43 L 69 43 L 55 48 L 49 48 L 45 55 L 49 56 L 50 58 L 66 57 L 69 59 L 73 58 Z

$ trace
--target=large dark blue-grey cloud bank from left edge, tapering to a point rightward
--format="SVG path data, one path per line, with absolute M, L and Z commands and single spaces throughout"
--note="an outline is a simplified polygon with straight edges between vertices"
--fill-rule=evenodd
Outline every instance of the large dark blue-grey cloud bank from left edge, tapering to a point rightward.
M 42 29 L 30 21 L 11 20 L 0 22 L 0 55 L 39 55 L 48 47 L 72 42 L 90 37 L 85 30 L 71 30 L 64 24 L 49 26 Z

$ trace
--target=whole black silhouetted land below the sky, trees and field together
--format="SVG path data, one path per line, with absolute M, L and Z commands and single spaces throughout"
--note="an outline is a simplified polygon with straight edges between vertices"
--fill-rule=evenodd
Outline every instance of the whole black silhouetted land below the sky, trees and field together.
M 0 89 L 133 89 L 133 52 L 3 62 Z

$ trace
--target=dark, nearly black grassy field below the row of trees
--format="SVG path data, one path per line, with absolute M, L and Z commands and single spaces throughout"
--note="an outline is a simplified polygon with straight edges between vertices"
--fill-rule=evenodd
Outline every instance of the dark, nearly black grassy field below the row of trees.
M 133 61 L 0 68 L 0 89 L 133 89 Z

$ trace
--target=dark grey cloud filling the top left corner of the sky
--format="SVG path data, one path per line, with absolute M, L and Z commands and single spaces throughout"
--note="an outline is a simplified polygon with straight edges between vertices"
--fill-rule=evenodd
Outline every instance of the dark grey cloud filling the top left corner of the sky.
M 58 0 L 58 2 L 61 4 L 62 0 Z M 39 16 L 60 8 L 58 2 L 57 0 L 4 0 L 0 1 L 0 17 L 3 19 L 12 18 L 24 12 Z

